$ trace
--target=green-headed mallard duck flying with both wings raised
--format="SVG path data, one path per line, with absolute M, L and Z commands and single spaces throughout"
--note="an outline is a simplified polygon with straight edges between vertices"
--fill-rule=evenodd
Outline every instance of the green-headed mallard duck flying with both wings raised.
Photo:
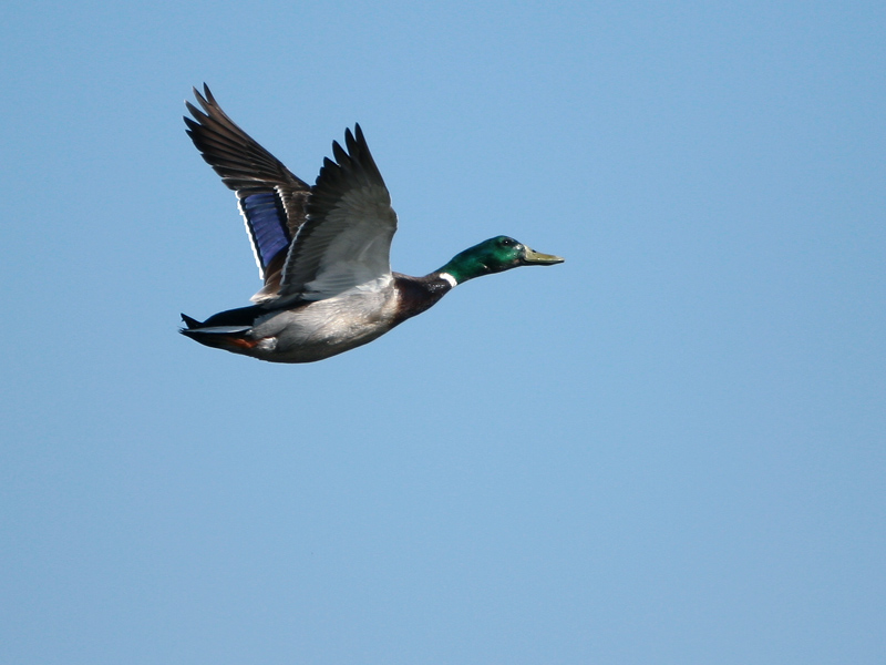
M 315 362 L 378 339 L 426 311 L 470 279 L 559 256 L 495 236 L 423 277 L 391 270 L 398 217 L 359 124 L 332 143 L 313 186 L 241 130 L 208 85 L 185 102 L 186 132 L 233 190 L 262 287 L 251 305 L 199 321 L 182 315 L 179 332 L 207 347 L 269 362 Z

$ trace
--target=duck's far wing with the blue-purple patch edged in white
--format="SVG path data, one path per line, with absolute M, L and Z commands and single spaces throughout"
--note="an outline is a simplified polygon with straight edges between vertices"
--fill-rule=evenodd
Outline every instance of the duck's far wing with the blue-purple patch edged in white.
M 222 111 L 209 88 L 194 89 L 203 111 L 185 102 L 187 133 L 203 158 L 237 194 L 265 288 L 254 296 L 277 294 L 287 250 L 305 223 L 310 186 L 261 147 Z

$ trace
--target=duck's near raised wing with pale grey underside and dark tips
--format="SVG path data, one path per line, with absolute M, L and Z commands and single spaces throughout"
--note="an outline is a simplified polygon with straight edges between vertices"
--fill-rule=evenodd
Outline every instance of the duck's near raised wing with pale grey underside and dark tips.
M 322 300 L 349 288 L 380 289 L 391 280 L 396 214 L 360 125 L 332 143 L 323 160 L 284 267 L 280 297 Z

